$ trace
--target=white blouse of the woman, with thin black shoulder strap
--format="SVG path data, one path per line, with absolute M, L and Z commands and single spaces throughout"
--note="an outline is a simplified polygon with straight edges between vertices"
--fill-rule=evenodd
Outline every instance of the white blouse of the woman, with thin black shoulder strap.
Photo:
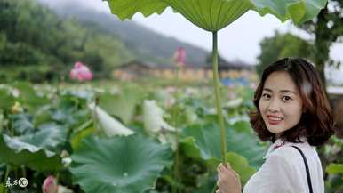
M 297 146 L 307 158 L 314 193 L 324 193 L 322 164 L 308 142 L 291 143 L 276 140 L 267 151 L 265 163 L 245 184 L 243 193 L 309 193 L 304 160 Z

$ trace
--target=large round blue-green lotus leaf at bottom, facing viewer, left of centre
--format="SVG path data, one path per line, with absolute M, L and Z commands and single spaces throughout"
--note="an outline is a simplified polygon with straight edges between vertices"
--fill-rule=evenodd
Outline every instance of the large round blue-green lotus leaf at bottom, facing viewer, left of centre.
M 140 193 L 155 186 L 172 150 L 140 135 L 86 138 L 72 155 L 71 173 L 86 193 Z

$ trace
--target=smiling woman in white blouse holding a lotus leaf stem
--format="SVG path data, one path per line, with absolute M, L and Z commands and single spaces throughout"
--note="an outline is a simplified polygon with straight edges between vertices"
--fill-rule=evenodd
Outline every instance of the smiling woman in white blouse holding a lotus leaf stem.
M 273 144 L 243 193 L 323 193 L 315 146 L 328 141 L 335 127 L 314 66 L 300 58 L 276 61 L 264 70 L 253 102 L 257 111 L 250 115 L 251 127 L 261 141 Z M 217 193 L 242 193 L 239 175 L 229 164 L 220 164 L 218 173 Z

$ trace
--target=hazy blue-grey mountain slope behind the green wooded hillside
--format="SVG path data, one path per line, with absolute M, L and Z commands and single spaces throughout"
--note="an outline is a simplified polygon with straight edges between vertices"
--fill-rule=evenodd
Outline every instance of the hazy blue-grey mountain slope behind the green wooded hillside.
M 120 21 L 114 15 L 93 10 L 75 1 L 61 1 L 60 4 L 52 4 L 50 0 L 40 1 L 48 4 L 60 17 L 75 18 L 86 28 L 98 28 L 101 33 L 119 36 L 138 60 L 171 65 L 173 53 L 179 46 L 185 47 L 187 64 L 192 66 L 205 65 L 209 55 L 209 52 L 195 45 L 163 36 L 134 21 Z

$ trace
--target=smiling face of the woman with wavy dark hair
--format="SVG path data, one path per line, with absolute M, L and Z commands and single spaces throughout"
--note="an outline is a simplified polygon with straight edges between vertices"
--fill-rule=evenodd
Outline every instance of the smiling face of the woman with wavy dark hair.
M 302 100 L 287 72 L 273 72 L 267 76 L 259 99 L 259 111 L 267 129 L 276 137 L 299 123 Z

